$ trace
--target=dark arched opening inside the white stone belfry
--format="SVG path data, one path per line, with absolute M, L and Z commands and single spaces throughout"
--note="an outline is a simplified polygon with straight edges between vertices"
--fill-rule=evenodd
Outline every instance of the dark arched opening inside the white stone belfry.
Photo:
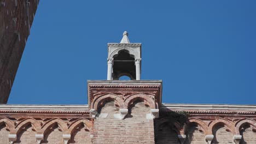
M 136 80 L 135 58 L 129 51 L 121 50 L 113 58 L 113 80 L 119 80 L 119 77 L 124 75 Z

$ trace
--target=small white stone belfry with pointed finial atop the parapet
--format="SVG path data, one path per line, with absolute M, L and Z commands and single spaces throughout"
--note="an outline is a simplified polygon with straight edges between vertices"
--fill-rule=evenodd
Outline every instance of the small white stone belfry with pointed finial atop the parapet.
M 123 33 L 120 43 L 108 43 L 107 80 L 128 76 L 141 80 L 141 43 L 130 43 L 128 33 Z

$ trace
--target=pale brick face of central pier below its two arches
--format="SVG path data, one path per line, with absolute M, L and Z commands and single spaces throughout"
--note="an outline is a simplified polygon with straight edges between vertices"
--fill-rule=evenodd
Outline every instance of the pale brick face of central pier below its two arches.
M 125 119 L 113 118 L 118 110 L 114 102 L 102 107 L 101 114 L 108 113 L 108 116 L 95 120 L 94 143 L 154 143 L 154 123 L 146 119 L 149 107 L 144 103 L 136 103 Z

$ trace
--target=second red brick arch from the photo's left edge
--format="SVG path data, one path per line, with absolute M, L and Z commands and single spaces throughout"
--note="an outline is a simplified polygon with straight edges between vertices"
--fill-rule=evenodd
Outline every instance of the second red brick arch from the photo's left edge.
M 17 131 L 16 133 L 18 134 L 21 131 L 21 128 L 25 127 L 27 124 L 30 124 L 30 123 L 34 130 L 36 130 L 37 132 L 41 131 L 40 122 L 38 122 L 36 119 L 33 119 L 33 118 L 26 118 L 26 119 L 23 119 L 21 122 L 19 122 L 15 126 L 15 129 Z

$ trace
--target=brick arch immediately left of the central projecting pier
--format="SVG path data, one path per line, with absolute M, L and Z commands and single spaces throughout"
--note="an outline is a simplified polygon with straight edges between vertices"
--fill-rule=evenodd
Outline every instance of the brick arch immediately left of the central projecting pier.
M 92 122 L 90 122 L 88 119 L 77 119 L 72 124 L 68 126 L 70 134 L 73 134 L 75 129 L 79 126 L 79 124 L 84 123 L 84 126 L 89 131 L 92 130 Z

